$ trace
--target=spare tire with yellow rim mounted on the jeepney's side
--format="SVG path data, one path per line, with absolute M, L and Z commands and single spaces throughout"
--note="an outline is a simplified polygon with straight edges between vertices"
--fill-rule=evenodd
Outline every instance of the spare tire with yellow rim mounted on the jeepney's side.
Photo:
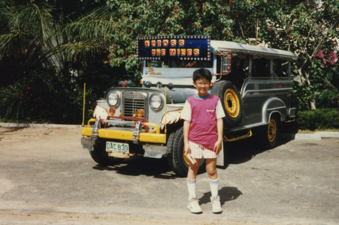
M 211 93 L 220 98 L 226 117 L 226 128 L 234 128 L 242 119 L 242 101 L 238 89 L 229 81 L 216 82 Z

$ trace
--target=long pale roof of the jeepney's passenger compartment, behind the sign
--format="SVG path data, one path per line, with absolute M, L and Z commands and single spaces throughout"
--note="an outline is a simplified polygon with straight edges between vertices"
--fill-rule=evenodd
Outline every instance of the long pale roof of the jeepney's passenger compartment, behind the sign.
M 214 49 L 216 53 L 226 53 L 226 52 L 235 52 L 235 53 L 246 53 L 247 55 L 254 55 L 258 58 L 269 58 L 269 59 L 285 59 L 289 61 L 294 61 L 298 59 L 298 57 L 288 51 L 268 48 L 268 47 L 260 47 L 256 45 L 249 44 L 241 44 L 237 42 L 231 41 L 210 41 L 211 47 Z

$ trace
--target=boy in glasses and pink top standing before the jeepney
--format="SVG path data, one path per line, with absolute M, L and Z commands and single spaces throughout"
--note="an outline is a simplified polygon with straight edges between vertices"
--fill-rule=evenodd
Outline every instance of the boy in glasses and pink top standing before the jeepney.
M 196 95 L 187 98 L 181 112 L 184 119 L 184 154 L 192 155 L 196 163 L 189 163 L 187 173 L 188 205 L 192 213 L 202 213 L 196 195 L 196 179 L 201 158 L 206 160 L 206 171 L 211 189 L 213 213 L 221 213 L 218 195 L 217 157 L 222 148 L 223 117 L 225 117 L 220 99 L 208 93 L 212 74 L 201 68 L 193 73 L 193 85 L 197 88 Z

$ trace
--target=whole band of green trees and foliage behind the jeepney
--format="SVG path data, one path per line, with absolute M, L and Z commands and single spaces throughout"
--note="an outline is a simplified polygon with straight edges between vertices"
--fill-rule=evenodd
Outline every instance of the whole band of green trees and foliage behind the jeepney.
M 135 38 L 167 34 L 205 34 L 295 52 L 299 109 L 310 109 L 310 103 L 335 107 L 338 12 L 336 0 L 322 5 L 313 0 L 3 0 L 0 116 L 79 123 L 83 83 L 88 109 L 119 80 L 137 85 L 141 62 Z

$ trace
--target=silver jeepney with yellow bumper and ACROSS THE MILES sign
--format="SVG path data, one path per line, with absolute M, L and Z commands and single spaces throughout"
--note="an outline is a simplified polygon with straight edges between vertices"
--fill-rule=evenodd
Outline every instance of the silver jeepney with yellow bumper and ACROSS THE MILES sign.
M 197 93 L 192 80 L 197 68 L 214 75 L 209 91 L 224 107 L 224 141 L 262 128 L 262 141 L 274 147 L 280 123 L 295 117 L 290 70 L 297 57 L 291 52 L 210 36 L 138 37 L 136 45 L 141 87 L 122 81 L 108 89 L 82 127 L 82 146 L 99 165 L 119 164 L 131 155 L 166 157 L 173 171 L 185 176 L 189 160 L 180 112 L 186 98 Z

